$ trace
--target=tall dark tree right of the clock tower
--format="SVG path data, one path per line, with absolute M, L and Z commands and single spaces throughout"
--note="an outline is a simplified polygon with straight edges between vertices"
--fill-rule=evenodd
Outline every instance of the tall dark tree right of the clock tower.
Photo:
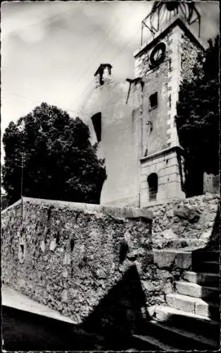
M 186 196 L 202 193 L 203 172 L 219 172 L 219 37 L 198 56 L 193 80 L 184 80 L 177 103 L 177 131 L 184 147 Z

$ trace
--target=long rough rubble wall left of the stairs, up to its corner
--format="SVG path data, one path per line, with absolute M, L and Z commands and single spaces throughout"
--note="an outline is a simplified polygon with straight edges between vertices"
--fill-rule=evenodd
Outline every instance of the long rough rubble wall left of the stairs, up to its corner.
M 136 263 L 152 249 L 149 211 L 23 198 L 1 230 L 3 282 L 77 324 L 99 313 L 111 325 L 117 308 L 133 321 L 145 306 Z

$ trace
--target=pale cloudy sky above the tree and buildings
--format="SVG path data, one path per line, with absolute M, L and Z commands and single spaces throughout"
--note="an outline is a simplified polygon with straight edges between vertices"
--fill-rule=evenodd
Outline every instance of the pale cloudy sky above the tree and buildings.
M 101 63 L 114 80 L 133 78 L 141 20 L 152 1 L 1 3 L 1 137 L 10 121 L 47 102 L 75 117 Z M 219 30 L 218 1 L 199 1 L 201 39 Z M 4 152 L 1 148 L 1 160 Z

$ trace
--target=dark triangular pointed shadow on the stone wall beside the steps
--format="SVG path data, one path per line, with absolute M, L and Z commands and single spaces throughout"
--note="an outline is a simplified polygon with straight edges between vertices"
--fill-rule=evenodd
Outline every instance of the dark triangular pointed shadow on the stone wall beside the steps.
M 141 280 L 132 265 L 122 279 L 109 290 L 81 328 L 105 337 L 106 349 L 126 349 L 131 334 L 141 332 L 150 319 L 146 311 Z

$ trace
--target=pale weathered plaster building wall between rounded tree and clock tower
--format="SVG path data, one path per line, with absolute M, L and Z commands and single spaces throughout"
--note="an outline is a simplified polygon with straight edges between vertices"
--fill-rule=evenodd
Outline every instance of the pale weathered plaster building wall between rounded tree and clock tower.
M 102 136 L 97 154 L 105 159 L 107 180 L 100 203 L 138 206 L 141 88 L 129 83 L 109 83 L 96 88 L 83 109 L 84 120 L 95 141 L 91 117 L 102 112 Z

